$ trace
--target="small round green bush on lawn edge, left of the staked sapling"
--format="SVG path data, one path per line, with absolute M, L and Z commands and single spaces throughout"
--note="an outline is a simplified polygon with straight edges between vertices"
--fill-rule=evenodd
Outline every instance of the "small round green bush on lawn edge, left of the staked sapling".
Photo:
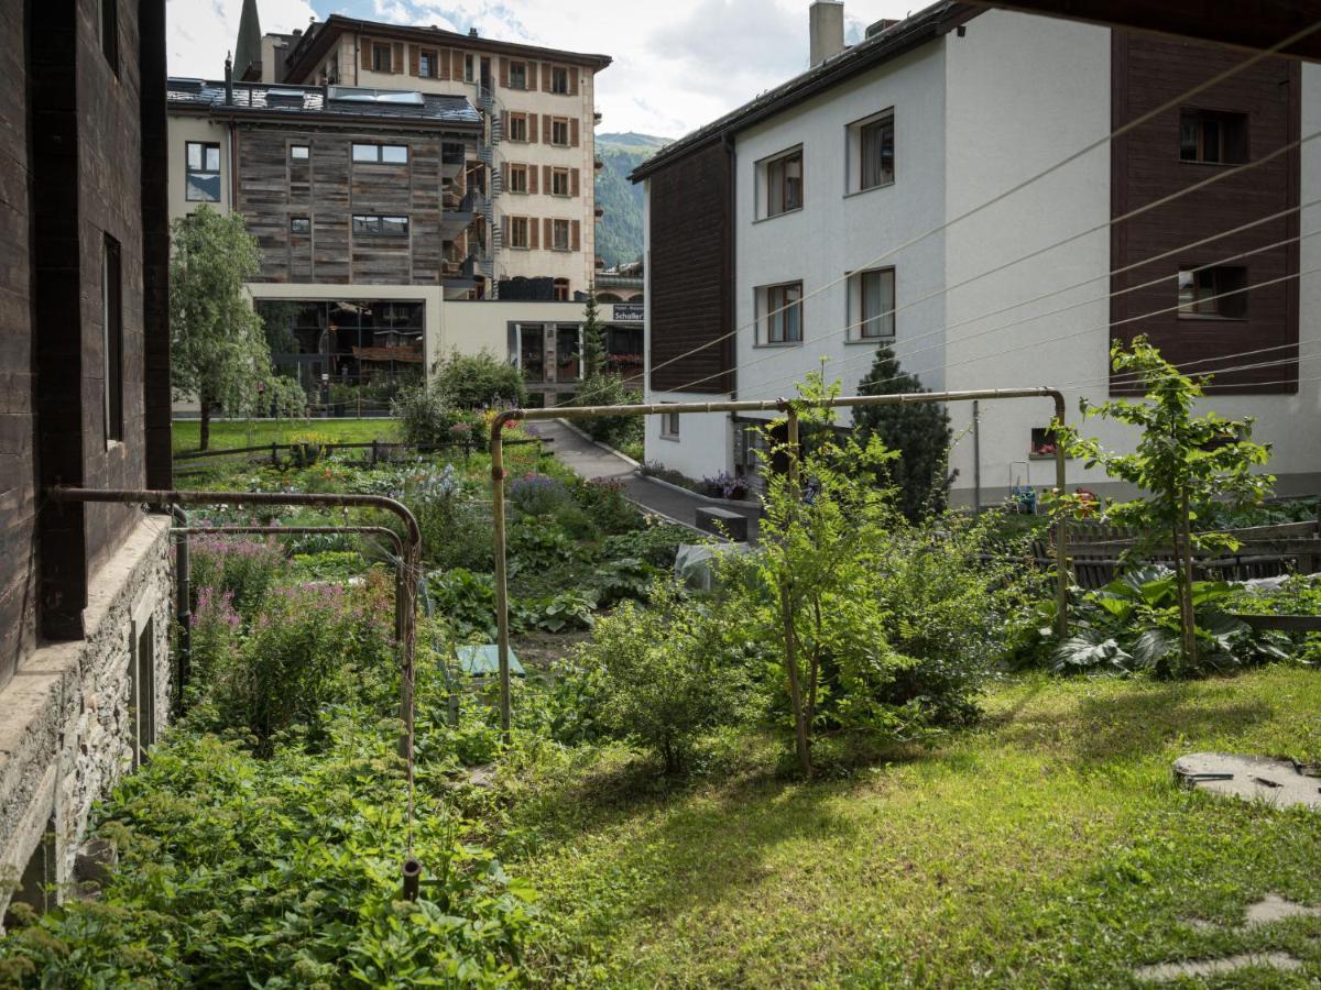
M 701 733 L 742 711 L 746 672 L 724 663 L 717 639 L 712 615 L 666 582 L 650 607 L 625 602 L 600 619 L 577 656 L 600 672 L 604 721 L 655 752 L 667 772 L 684 768 Z

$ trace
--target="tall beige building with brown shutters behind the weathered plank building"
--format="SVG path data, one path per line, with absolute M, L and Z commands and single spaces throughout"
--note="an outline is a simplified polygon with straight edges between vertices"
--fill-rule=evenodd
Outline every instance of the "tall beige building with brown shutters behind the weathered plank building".
M 254 34 L 240 28 L 239 81 L 415 90 L 462 96 L 478 110 L 482 128 L 464 176 L 477 215 L 470 297 L 571 301 L 590 288 L 593 91 L 608 55 L 338 15 L 291 36 Z

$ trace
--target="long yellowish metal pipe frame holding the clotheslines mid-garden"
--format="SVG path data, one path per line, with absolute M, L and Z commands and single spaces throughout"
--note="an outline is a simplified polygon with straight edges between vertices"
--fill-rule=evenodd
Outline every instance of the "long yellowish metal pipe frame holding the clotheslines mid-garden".
M 723 412 L 779 412 L 787 421 L 790 440 L 790 471 L 797 473 L 798 413 L 804 408 L 845 408 L 855 405 L 904 405 L 906 403 L 974 403 L 1000 399 L 1050 399 L 1054 403 L 1057 426 L 1065 425 L 1065 396 L 1057 388 L 988 388 L 963 392 L 900 392 L 893 395 L 855 395 L 824 400 L 768 399 L 724 403 L 645 403 L 638 405 L 584 405 L 551 407 L 547 409 L 509 409 L 491 422 L 491 506 L 495 525 L 495 636 L 499 656 L 501 726 L 507 737 L 511 726 L 509 682 L 509 574 L 506 569 L 505 525 L 505 426 L 510 422 L 546 420 L 588 420 L 601 416 L 660 416 L 684 413 Z M 1055 490 L 1065 491 L 1065 451 L 1055 445 Z M 797 477 L 797 474 L 794 474 Z M 1069 561 L 1067 521 L 1065 513 L 1055 516 L 1055 628 L 1061 636 L 1069 627 Z

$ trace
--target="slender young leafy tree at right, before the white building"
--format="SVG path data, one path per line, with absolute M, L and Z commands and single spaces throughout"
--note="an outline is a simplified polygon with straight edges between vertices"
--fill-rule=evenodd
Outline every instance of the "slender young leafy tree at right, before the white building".
M 1089 417 L 1112 418 L 1141 429 L 1137 449 L 1132 454 L 1106 450 L 1071 426 L 1059 428 L 1058 436 L 1067 453 L 1085 458 L 1087 467 L 1099 465 L 1111 478 L 1147 492 L 1144 498 L 1108 503 L 1104 521 L 1139 531 L 1136 545 L 1125 553 L 1129 560 L 1155 548 L 1173 548 L 1181 665 L 1193 673 L 1198 668 L 1193 553 L 1238 546 L 1227 533 L 1196 532 L 1193 524 L 1215 503 L 1236 508 L 1259 504 L 1275 478 L 1255 469 L 1269 461 L 1271 451 L 1252 442 L 1251 420 L 1226 420 L 1215 412 L 1194 416 L 1210 379 L 1180 374 L 1145 337 L 1133 338 L 1127 348 L 1116 341 L 1111 360 L 1116 374 L 1136 376 L 1145 389 L 1144 401 L 1114 399 L 1090 405 L 1083 399 L 1082 411 Z M 1077 496 L 1063 496 L 1063 503 L 1078 512 L 1095 508 Z

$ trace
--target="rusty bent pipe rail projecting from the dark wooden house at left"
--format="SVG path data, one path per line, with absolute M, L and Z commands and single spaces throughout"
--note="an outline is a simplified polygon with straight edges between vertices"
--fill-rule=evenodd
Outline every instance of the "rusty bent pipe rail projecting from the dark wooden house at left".
M 394 512 L 403 520 L 407 529 L 403 554 L 403 609 L 402 632 L 399 639 L 399 709 L 404 722 L 404 734 L 399 741 L 400 755 L 404 759 L 408 780 L 408 817 L 404 838 L 408 859 L 413 850 L 413 653 L 417 642 L 415 609 L 417 598 L 417 577 L 421 569 L 421 531 L 417 519 L 402 502 L 384 495 L 337 495 L 308 492 L 269 491 L 173 491 L 166 488 L 69 488 L 55 486 L 49 490 L 52 502 L 111 502 L 125 506 L 314 506 L 318 508 L 380 508 Z M 292 529 L 292 527 L 291 527 Z M 420 867 L 419 867 L 420 869 Z

